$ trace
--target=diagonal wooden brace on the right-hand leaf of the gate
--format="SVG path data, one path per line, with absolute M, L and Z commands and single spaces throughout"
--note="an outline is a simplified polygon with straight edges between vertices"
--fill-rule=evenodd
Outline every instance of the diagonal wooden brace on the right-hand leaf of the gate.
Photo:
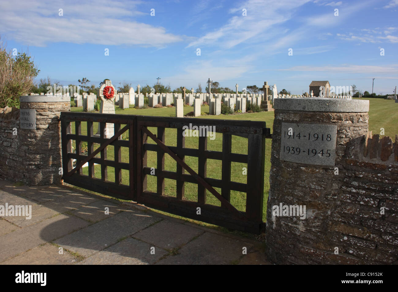
M 232 213 L 236 214 L 240 219 L 242 220 L 248 220 L 246 216 L 244 216 L 240 211 L 238 211 L 234 206 L 231 205 L 230 202 L 228 202 L 222 195 L 220 195 L 210 184 L 208 184 L 199 174 L 197 174 L 192 168 L 188 166 L 184 161 L 182 161 L 176 153 L 170 150 L 169 147 L 167 147 L 162 141 L 160 141 L 156 135 L 154 135 L 151 131 L 149 131 L 145 126 L 141 126 L 141 129 L 149 136 L 152 138 L 153 141 L 156 142 L 156 144 L 159 145 L 159 147 L 165 152 L 168 153 L 179 165 L 181 165 L 191 176 L 196 178 L 196 180 L 202 184 L 207 190 L 209 190 L 221 203 L 225 204 L 225 207 L 231 211 Z

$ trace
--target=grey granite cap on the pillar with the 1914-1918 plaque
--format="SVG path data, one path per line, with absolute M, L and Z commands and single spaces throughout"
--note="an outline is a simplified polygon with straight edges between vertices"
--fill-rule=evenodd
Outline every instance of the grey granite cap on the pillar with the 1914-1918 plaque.
M 304 112 L 369 112 L 369 101 L 330 97 L 286 98 L 274 99 L 273 108 Z

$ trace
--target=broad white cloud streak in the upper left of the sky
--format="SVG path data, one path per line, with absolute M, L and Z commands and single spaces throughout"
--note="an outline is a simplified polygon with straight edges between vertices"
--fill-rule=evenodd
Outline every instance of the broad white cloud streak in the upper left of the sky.
M 0 27 L 15 41 L 33 46 L 47 43 L 131 44 L 161 47 L 183 40 L 137 21 L 148 13 L 138 9 L 141 1 L 99 0 L 90 4 L 61 0 L 21 0 L 19 5 L 0 2 Z M 63 16 L 59 16 L 62 9 Z

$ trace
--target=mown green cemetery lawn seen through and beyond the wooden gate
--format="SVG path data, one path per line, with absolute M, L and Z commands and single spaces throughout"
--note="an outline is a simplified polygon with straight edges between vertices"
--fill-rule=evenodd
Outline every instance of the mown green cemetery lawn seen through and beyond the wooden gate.
M 384 128 L 385 135 L 394 137 L 398 134 L 398 104 L 394 101 L 384 99 L 369 99 L 370 110 L 369 110 L 369 130 L 373 133 L 380 133 L 380 128 Z M 191 112 L 193 107 L 184 107 L 184 114 Z M 71 108 L 71 111 L 82 111 L 82 107 Z M 120 110 L 116 108 L 116 114 L 137 114 L 143 116 L 175 116 L 176 109 L 172 108 L 147 108 L 147 109 L 135 109 L 129 108 Z M 202 106 L 201 112 L 209 112 L 209 106 Z M 274 112 L 259 112 L 259 113 L 245 113 L 245 114 L 233 114 L 233 115 L 219 115 L 219 116 L 201 116 L 200 118 L 211 118 L 211 119 L 224 119 L 224 120 L 252 120 L 252 121 L 265 121 L 266 127 L 271 128 L 274 119 Z M 123 127 L 123 125 L 122 125 Z M 86 122 L 81 124 L 82 134 L 87 133 Z M 94 123 L 94 133 L 97 132 L 98 123 Z M 148 128 L 152 133 L 156 134 L 156 128 Z M 72 133 L 74 133 L 74 123 L 72 123 Z M 128 137 L 128 133 L 123 134 L 124 137 Z M 177 130 L 166 129 L 166 145 L 176 146 L 177 145 Z M 214 140 L 208 139 L 208 150 L 222 151 L 222 135 L 216 133 Z M 185 137 L 185 147 L 197 148 L 198 137 Z M 152 139 L 148 138 L 148 143 L 155 143 Z M 246 154 L 248 148 L 247 139 L 238 136 L 232 136 L 232 152 Z M 147 152 L 147 166 L 156 166 L 156 153 L 152 151 Z M 107 146 L 107 159 L 113 160 L 114 158 L 113 146 Z M 121 148 L 122 162 L 129 162 L 128 149 L 125 147 Z M 269 191 L 269 170 L 271 167 L 270 162 L 271 155 L 271 139 L 265 140 L 265 171 L 264 171 L 264 201 L 263 201 L 263 220 L 265 221 L 267 198 Z M 100 157 L 100 154 L 97 155 Z M 197 157 L 185 157 L 185 162 L 197 172 Z M 232 162 L 231 166 L 231 180 L 235 182 L 246 183 L 247 176 L 242 174 L 242 168 L 247 167 L 244 163 Z M 165 169 L 170 171 L 176 171 L 176 161 L 170 156 L 165 155 Z M 221 168 L 220 161 L 208 159 L 207 160 L 207 176 L 209 178 L 221 179 Z M 88 168 L 83 169 L 84 174 L 88 174 Z M 101 177 L 100 166 L 95 166 L 95 176 Z M 127 170 L 122 170 L 122 184 L 129 184 L 129 174 Z M 147 188 L 150 191 L 156 191 L 156 176 L 147 176 L 148 184 Z M 114 170 L 108 167 L 108 180 L 114 182 L 115 175 Z M 215 188 L 220 192 L 220 189 Z M 165 195 L 176 197 L 176 181 L 165 179 Z M 185 183 L 185 199 L 190 201 L 197 200 L 197 185 L 191 183 Z M 220 202 L 211 193 L 207 192 L 207 203 L 212 205 L 220 206 Z M 244 211 L 246 207 L 246 193 L 240 193 L 238 191 L 231 191 L 231 203 L 238 210 Z M 173 215 L 174 216 L 174 215 Z M 193 221 L 190 219 L 185 219 Z M 203 224 L 203 223 L 201 223 Z M 207 225 L 207 224 L 205 224 Z

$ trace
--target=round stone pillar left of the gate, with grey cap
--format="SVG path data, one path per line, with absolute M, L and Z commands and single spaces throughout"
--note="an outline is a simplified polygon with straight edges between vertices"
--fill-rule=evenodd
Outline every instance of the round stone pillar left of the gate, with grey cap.
M 70 111 L 70 96 L 30 95 L 20 97 L 21 177 L 29 186 L 61 182 L 60 112 Z

